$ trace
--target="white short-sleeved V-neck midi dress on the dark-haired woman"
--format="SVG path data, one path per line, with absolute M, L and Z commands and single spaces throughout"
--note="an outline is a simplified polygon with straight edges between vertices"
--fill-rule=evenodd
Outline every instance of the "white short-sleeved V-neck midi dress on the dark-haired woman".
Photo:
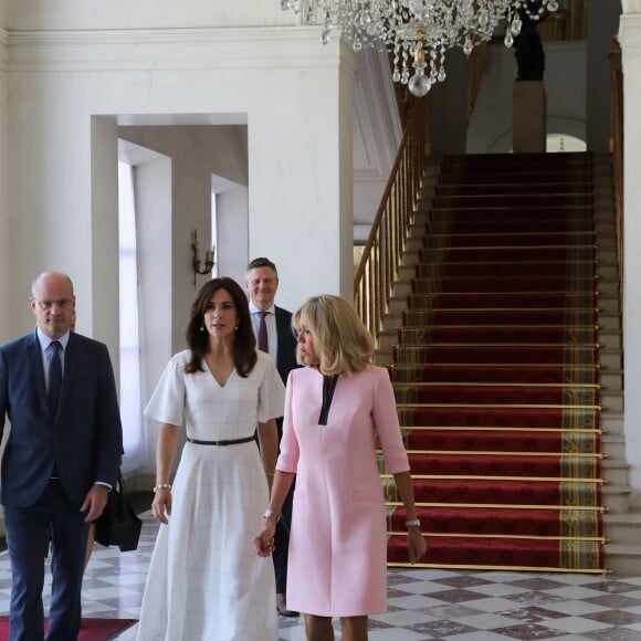
M 174 356 L 145 409 L 187 437 L 231 440 L 282 416 L 284 387 L 272 358 L 224 386 L 207 371 L 185 374 L 189 350 Z M 269 505 L 255 442 L 187 442 L 174 480 L 168 525 L 160 525 L 143 597 L 138 641 L 277 640 L 274 566 L 252 539 Z

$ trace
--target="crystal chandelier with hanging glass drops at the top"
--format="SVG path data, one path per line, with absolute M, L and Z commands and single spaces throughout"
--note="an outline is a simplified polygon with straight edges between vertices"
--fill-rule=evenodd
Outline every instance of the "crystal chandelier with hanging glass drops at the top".
M 506 21 L 505 45 L 521 33 L 522 17 L 539 20 L 558 9 L 557 0 L 281 0 L 284 10 L 320 23 L 327 44 L 338 32 L 354 51 L 377 46 L 392 54 L 395 82 L 424 96 L 445 80 L 445 52 L 460 46 L 470 55 Z

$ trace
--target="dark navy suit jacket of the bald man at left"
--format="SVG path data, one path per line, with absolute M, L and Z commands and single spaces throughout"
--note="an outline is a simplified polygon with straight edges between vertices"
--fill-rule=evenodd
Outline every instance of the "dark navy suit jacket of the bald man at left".
M 123 430 L 114 372 L 104 344 L 72 332 L 55 419 L 49 416 L 35 332 L 0 347 L 0 423 L 11 431 L 2 456 L 0 501 L 29 507 L 44 492 L 54 460 L 78 505 L 95 481 L 114 486 Z M 0 425 L 0 438 L 4 428 Z

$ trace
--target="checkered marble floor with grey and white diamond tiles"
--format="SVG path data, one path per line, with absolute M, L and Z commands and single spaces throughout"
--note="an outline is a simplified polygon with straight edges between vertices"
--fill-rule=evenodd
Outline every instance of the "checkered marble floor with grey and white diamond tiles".
M 158 527 L 150 513 L 143 517 L 137 551 L 96 545 L 84 581 L 85 617 L 138 618 Z M 2 553 L 0 613 L 8 612 L 10 585 Z M 639 641 L 641 577 L 390 569 L 388 611 L 371 617 L 369 628 L 370 641 Z M 135 638 L 133 627 L 118 640 Z M 280 638 L 303 641 L 302 620 L 281 618 Z

